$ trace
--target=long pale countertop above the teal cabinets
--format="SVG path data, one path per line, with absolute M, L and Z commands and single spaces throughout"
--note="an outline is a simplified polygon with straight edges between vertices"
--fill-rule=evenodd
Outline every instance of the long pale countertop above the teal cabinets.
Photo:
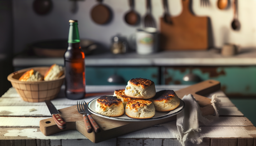
M 64 65 L 63 58 L 47 58 L 19 55 L 14 57 L 14 67 Z M 140 55 L 135 52 L 125 54 L 101 53 L 86 56 L 86 66 L 254 66 L 256 49 L 241 49 L 230 57 L 221 56 L 219 49 L 208 51 L 163 51 Z

